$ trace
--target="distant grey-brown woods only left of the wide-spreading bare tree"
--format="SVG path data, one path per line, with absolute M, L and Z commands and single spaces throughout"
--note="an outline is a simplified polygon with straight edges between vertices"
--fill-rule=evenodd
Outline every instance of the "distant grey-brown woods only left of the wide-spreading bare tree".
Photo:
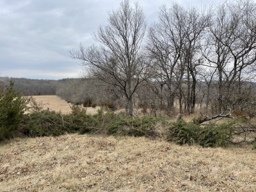
M 92 78 L 48 80 L 0 77 L 0 90 L 10 81 L 14 81 L 15 90 L 23 96 L 58 95 L 74 104 L 82 104 L 86 99 L 100 104 L 119 97 L 115 88 Z

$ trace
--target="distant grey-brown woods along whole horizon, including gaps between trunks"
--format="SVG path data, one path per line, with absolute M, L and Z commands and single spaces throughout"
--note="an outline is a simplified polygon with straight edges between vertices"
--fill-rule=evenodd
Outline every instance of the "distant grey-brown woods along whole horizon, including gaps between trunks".
M 83 104 L 90 100 L 100 106 L 111 104 L 114 108 L 125 108 L 125 98 L 117 87 L 111 86 L 104 81 L 87 78 L 60 79 L 60 80 L 43 80 L 43 79 L 25 79 L 0 77 L 0 90 L 4 85 L 8 85 L 13 80 L 15 90 L 22 95 L 58 95 L 61 99 L 72 104 Z M 148 81 L 143 84 L 136 93 L 132 102 L 136 108 L 142 108 L 143 113 L 156 113 L 158 109 L 166 109 L 168 100 L 168 88 L 166 84 Z M 160 87 L 160 88 L 159 88 Z M 200 111 L 209 111 L 217 113 L 216 88 L 218 82 L 212 81 L 211 87 L 206 81 L 198 81 L 196 84 L 196 106 Z M 239 104 L 239 109 L 249 109 L 254 106 L 253 95 L 255 95 L 256 86 L 252 82 L 243 82 L 243 95 L 234 96 L 230 102 Z M 186 104 L 184 97 L 175 97 L 176 106 Z M 248 106 L 250 105 L 250 106 Z M 235 107 L 234 107 L 235 108 Z M 180 107 L 182 109 L 182 106 Z M 179 112 L 183 112 L 179 110 Z

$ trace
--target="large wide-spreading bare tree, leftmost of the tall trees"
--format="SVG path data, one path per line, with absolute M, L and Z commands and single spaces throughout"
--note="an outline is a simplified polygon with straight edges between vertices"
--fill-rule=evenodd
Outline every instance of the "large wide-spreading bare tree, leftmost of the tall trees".
M 133 114 L 132 96 L 147 79 L 148 65 L 143 58 L 141 43 L 145 35 L 145 18 L 137 3 L 128 0 L 109 13 L 108 25 L 100 27 L 95 39 L 100 47 L 71 51 L 72 58 L 83 61 L 90 72 L 102 81 L 120 88 L 127 100 L 126 112 Z

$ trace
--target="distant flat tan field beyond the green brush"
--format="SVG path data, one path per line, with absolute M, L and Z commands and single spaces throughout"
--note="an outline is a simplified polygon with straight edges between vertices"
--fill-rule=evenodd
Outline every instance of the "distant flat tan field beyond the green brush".
M 70 113 L 72 111 L 70 108 L 72 104 L 68 104 L 67 101 L 56 95 L 36 95 L 33 96 L 33 98 L 43 109 L 49 109 L 56 112 L 61 111 L 61 113 Z M 83 108 L 83 106 L 81 106 L 81 108 Z M 86 112 L 93 115 L 97 113 L 98 109 L 100 109 L 100 107 L 86 108 Z

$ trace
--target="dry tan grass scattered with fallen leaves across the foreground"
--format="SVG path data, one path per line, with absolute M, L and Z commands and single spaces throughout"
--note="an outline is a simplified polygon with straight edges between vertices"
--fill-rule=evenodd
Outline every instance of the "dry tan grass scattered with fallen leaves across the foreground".
M 255 191 L 250 148 L 146 138 L 28 138 L 0 147 L 0 191 Z

